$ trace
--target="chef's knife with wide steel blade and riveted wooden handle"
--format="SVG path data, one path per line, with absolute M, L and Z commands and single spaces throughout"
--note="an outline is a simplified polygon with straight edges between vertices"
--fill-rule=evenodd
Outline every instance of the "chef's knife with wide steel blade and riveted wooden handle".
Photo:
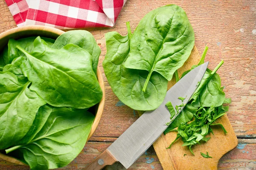
M 156 110 L 143 113 L 107 150 L 83 170 L 101 170 L 116 161 L 125 168 L 130 167 L 168 127 L 166 123 L 170 122 L 170 113 L 165 106 L 166 103 L 170 101 L 174 108 L 182 103 L 186 105 L 204 76 L 207 66 L 208 62 L 196 67 L 180 79 L 167 91 L 163 103 Z M 178 97 L 183 97 L 185 100 L 182 102 Z

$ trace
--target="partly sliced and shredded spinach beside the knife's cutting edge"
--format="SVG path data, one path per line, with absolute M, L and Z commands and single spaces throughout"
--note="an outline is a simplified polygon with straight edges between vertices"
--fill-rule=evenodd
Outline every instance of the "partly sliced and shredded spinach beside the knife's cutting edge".
M 205 48 L 198 65 L 204 63 L 207 50 L 208 47 Z M 201 142 L 207 142 L 211 138 L 207 137 L 209 133 L 213 134 L 211 126 L 218 125 L 223 129 L 225 134 L 227 133 L 223 125 L 215 123 L 216 119 L 227 113 L 229 106 L 225 106 L 225 104 L 231 103 L 230 98 L 225 98 L 225 93 L 223 91 L 224 87 L 221 87 L 221 79 L 216 73 L 223 63 L 224 62 L 221 61 L 213 71 L 207 69 L 195 93 L 173 122 L 173 117 L 175 117 L 178 110 L 183 107 L 183 104 L 173 107 L 171 102 L 166 103 L 166 107 L 171 114 L 170 119 L 172 123 L 166 123 L 169 127 L 164 131 L 164 134 L 171 131 L 177 131 L 176 139 L 168 148 L 181 138 L 184 142 L 182 146 L 188 146 L 190 152 L 194 155 L 192 146 L 195 144 L 201 144 Z M 196 68 L 198 65 L 193 65 L 191 70 Z M 182 74 L 182 77 L 189 73 L 189 71 L 185 71 Z M 176 81 L 178 80 L 179 79 L 176 76 Z M 182 102 L 184 100 L 184 98 L 179 99 L 182 100 Z M 191 120 L 192 122 L 189 122 Z M 175 129 L 176 127 L 177 129 Z M 207 155 L 206 157 L 208 158 L 209 155 Z

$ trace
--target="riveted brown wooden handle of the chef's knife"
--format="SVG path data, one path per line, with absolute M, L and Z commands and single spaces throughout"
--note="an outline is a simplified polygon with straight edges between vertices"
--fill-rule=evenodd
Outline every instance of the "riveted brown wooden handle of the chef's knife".
M 116 161 L 115 157 L 108 150 L 105 150 L 82 170 L 101 170 L 107 165 L 113 165 Z

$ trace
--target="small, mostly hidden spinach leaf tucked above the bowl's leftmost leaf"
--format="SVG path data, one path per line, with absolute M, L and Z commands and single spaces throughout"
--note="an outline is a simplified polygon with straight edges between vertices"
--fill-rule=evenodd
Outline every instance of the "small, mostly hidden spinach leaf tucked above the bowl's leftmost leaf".
M 7 64 L 3 68 L 3 72 L 11 72 L 17 76 L 21 84 L 25 84 L 29 80 L 25 77 L 20 69 L 20 65 L 25 61 L 23 57 L 17 57 L 12 60 L 12 64 Z

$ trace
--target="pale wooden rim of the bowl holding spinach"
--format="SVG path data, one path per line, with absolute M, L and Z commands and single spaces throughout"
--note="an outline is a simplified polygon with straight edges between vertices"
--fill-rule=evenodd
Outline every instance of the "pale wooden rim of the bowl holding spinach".
M 52 27 L 48 27 L 48 26 L 21 26 L 21 27 L 12 28 L 12 29 L 9 29 L 7 31 L 0 33 L 0 40 L 3 38 L 12 38 L 12 36 L 17 34 L 18 32 L 26 32 L 26 31 L 43 31 L 43 32 L 47 32 L 49 34 L 54 34 L 53 37 L 56 37 L 56 38 L 65 32 L 60 29 L 52 28 Z M 99 125 L 99 122 L 102 118 L 102 113 L 103 113 L 104 104 L 105 104 L 105 85 L 104 85 L 102 73 L 99 69 L 99 65 L 97 67 L 97 78 L 99 81 L 99 85 L 102 89 L 102 99 L 99 102 L 98 109 L 95 114 L 95 119 L 93 121 L 93 125 L 91 127 L 91 130 L 88 135 L 86 143 L 91 138 L 91 136 L 93 136 L 93 133 L 95 132 L 96 128 Z M 0 158 L 4 159 L 6 161 L 9 161 L 9 162 L 15 163 L 15 164 L 28 166 L 27 164 L 24 164 L 23 162 L 19 161 L 18 159 L 14 158 L 12 156 L 7 156 L 4 153 L 0 153 Z

